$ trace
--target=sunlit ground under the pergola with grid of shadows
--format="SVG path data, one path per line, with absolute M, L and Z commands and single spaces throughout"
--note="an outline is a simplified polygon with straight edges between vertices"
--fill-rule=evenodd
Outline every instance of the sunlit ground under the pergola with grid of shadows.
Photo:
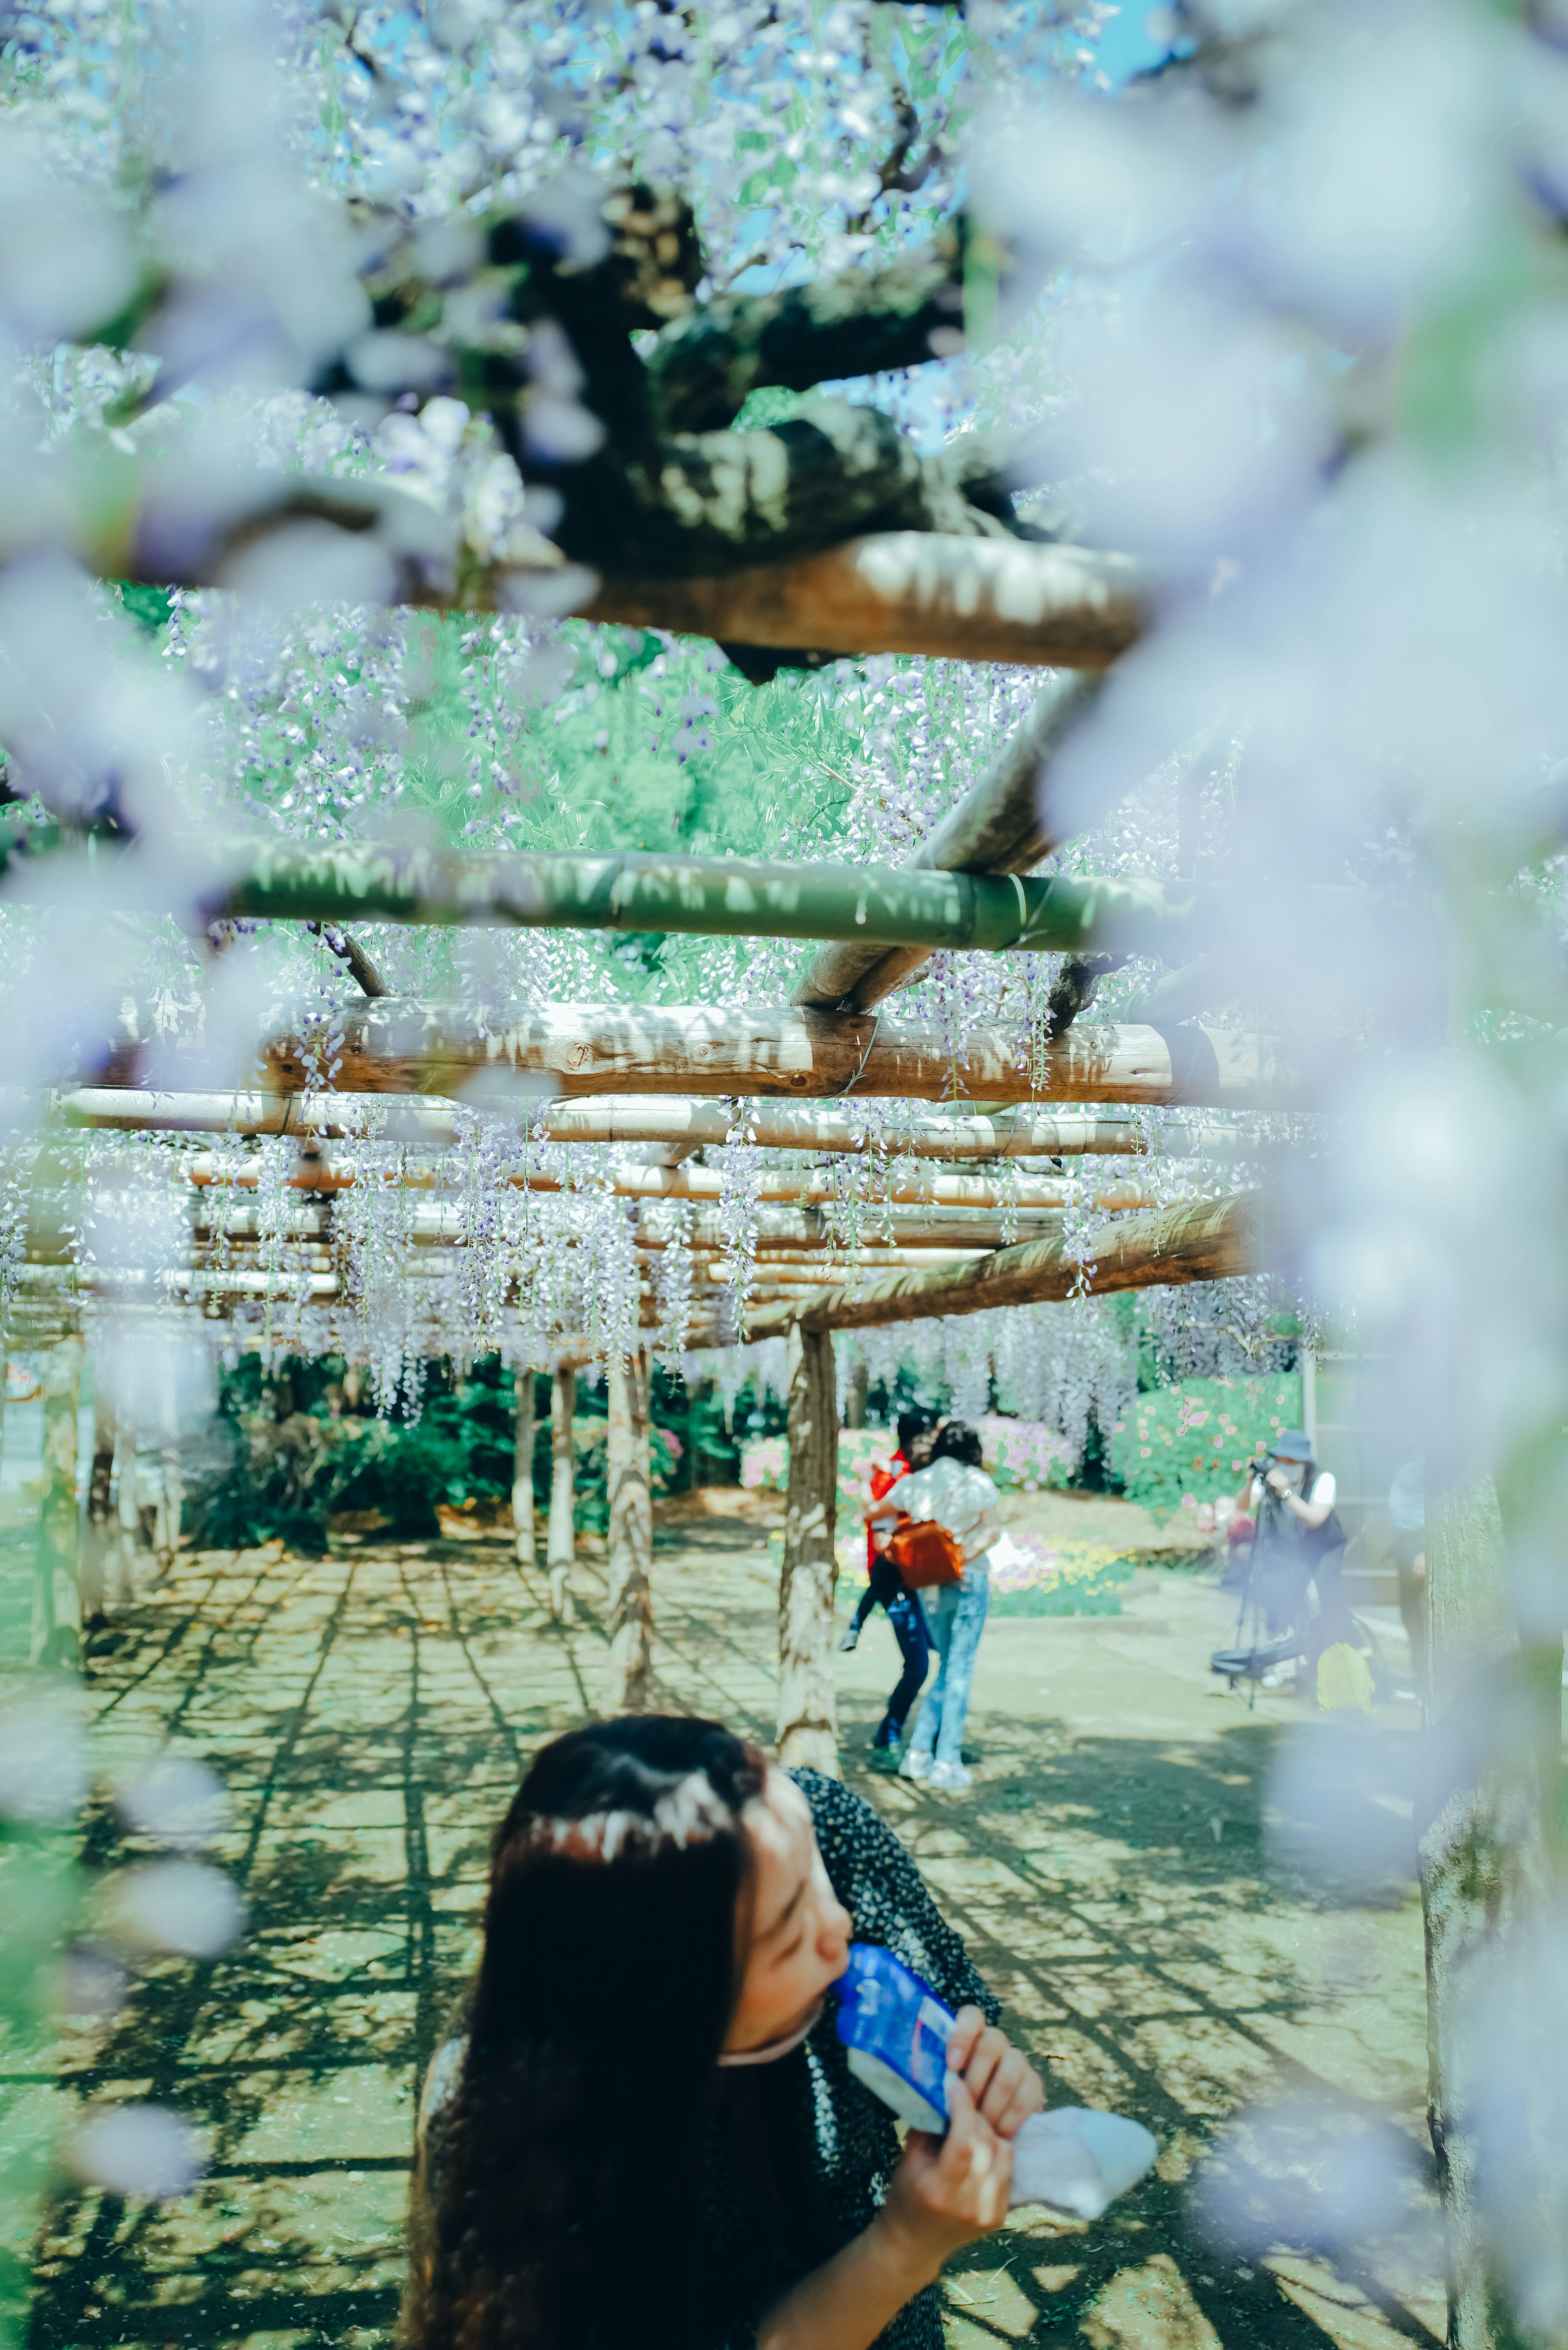
M 1403 2244 L 1335 2270 L 1190 2237 L 1185 2171 L 1246 2096 L 1335 2094 L 1418 2143 L 1420 1913 L 1394 1864 L 1387 1882 L 1335 1889 L 1267 1856 L 1267 1758 L 1291 1701 L 1248 1713 L 1213 1685 L 1215 1593 L 1178 1574 L 1143 1586 L 1119 1619 L 992 1626 L 961 1798 L 865 1770 L 896 1678 L 879 1617 L 842 1659 L 849 1774 L 917 1852 L 1011 2028 L 1053 2052 L 1056 2099 L 1140 2113 L 1164 2148 L 1161 2176 L 1100 2225 L 1037 2221 L 964 2256 L 954 2350 L 1030 2334 L 1093 2350 L 1441 2338 L 1441 2296 Z M 235 1819 L 214 1856 L 249 1927 L 221 1960 L 158 1965 L 118 2021 L 73 2030 L 56 2087 L 16 2084 L 155 2096 L 209 2148 L 197 2193 L 162 2209 L 59 2197 L 38 2350 L 388 2341 L 418 2068 L 473 1960 L 487 1840 L 520 1765 L 592 1706 L 595 1589 L 588 1574 L 564 1633 L 541 1577 L 491 1542 L 200 1556 L 99 1640 L 99 1760 L 162 1746 L 219 1770 Z M 665 1701 L 766 1739 L 762 1532 L 670 1530 L 656 1610 Z M 1406 1734 L 1389 1718 L 1368 1737 L 1371 1777 L 1347 1800 L 1396 1819 Z M 1328 1847 L 1335 1833 L 1302 1826 Z M 136 1849 L 94 1814 L 94 1868 Z

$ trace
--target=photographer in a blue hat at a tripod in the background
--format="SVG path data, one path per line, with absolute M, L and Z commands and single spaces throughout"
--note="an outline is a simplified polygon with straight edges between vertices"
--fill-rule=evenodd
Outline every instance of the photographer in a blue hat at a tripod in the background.
M 1248 1478 L 1237 1495 L 1237 1509 L 1251 1511 L 1253 1558 L 1241 1593 L 1241 1619 L 1253 1610 L 1253 1647 L 1220 1652 L 1241 1659 L 1237 1678 L 1258 1678 L 1276 1687 L 1295 1659 L 1316 1657 L 1340 1640 L 1345 1600 L 1340 1570 L 1345 1563 L 1345 1528 L 1335 1513 L 1333 1471 L 1319 1469 L 1302 1429 L 1281 1429 L 1272 1452 L 1248 1462 Z M 1316 1589 L 1316 1614 L 1309 1589 Z M 1262 1631 L 1267 1640 L 1258 1638 Z M 1215 1671 L 1229 1666 L 1215 1657 Z

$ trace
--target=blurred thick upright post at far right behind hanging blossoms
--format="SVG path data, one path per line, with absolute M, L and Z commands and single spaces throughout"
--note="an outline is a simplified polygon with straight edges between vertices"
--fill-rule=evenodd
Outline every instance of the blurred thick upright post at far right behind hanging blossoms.
M 1453 2350 L 1514 2350 L 1526 2336 L 1488 2244 L 1476 2129 L 1467 2110 L 1479 2054 L 1469 2002 L 1500 1946 L 1521 1936 L 1549 1901 L 1563 1643 L 1519 1643 L 1490 1480 L 1427 1497 L 1427 1610 L 1432 1727 L 1418 1831 L 1427 2117 L 1448 2223 L 1448 2341 Z M 1526 2127 L 1519 2115 L 1516 2129 Z M 1547 2162 L 1561 2174 L 1556 2131 Z M 1549 2183 L 1542 2186 L 1549 2195 Z

